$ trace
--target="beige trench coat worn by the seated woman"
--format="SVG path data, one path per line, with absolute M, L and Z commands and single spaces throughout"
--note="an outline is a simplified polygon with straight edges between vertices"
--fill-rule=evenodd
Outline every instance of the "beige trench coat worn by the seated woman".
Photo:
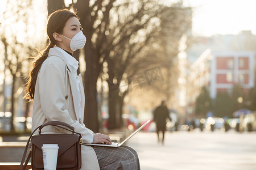
M 62 121 L 73 126 L 76 132 L 82 133 L 84 143 L 92 143 L 93 132 L 83 124 L 85 96 L 81 75 L 79 79 L 82 115 L 79 122 L 79 91 L 69 70 L 71 68 L 63 54 L 56 49 L 49 49 L 48 58 L 43 62 L 36 80 L 32 130 L 48 121 Z M 55 126 L 46 126 L 42 132 L 65 133 Z M 81 169 L 100 169 L 96 153 L 90 146 L 82 145 Z

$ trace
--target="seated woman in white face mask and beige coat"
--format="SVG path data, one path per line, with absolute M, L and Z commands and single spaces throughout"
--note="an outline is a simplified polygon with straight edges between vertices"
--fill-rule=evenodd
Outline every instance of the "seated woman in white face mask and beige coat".
M 84 122 L 84 87 L 79 62 L 72 53 L 84 47 L 77 15 L 67 9 L 57 10 L 47 21 L 49 44 L 32 62 L 26 98 L 34 100 L 32 130 L 48 121 L 62 121 L 82 133 L 84 143 L 111 144 L 108 135 L 86 128 Z M 46 126 L 44 133 L 65 133 Z M 81 169 L 140 169 L 137 153 L 130 147 L 91 147 L 82 145 Z

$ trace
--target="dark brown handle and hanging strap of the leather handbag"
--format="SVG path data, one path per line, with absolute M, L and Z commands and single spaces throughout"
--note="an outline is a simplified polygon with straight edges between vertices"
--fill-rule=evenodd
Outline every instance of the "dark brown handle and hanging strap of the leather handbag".
M 71 125 L 69 125 L 69 124 L 66 124 L 66 123 L 64 123 L 64 122 L 60 122 L 60 121 L 51 121 L 51 122 L 47 122 L 46 124 L 43 124 L 43 125 L 38 126 L 38 128 L 36 128 L 36 129 L 31 133 L 30 137 L 28 138 L 27 145 L 26 145 L 26 147 L 25 147 L 25 150 L 24 150 L 24 153 L 23 153 L 23 156 L 22 156 L 22 161 L 20 162 L 20 165 L 19 165 L 19 170 L 24 170 L 24 169 L 27 167 L 28 161 L 30 160 L 30 157 L 31 157 L 31 150 L 30 150 L 30 154 L 28 154 L 27 160 L 26 160 L 26 162 L 25 162 L 25 164 L 24 164 L 24 166 L 23 166 L 24 160 L 25 160 L 26 155 L 27 155 L 28 145 L 29 145 L 29 143 L 30 143 L 30 140 L 31 140 L 31 138 L 32 138 L 32 135 L 33 135 L 33 134 L 35 133 L 35 131 L 38 130 L 38 129 L 39 129 L 39 134 L 41 134 L 41 129 L 44 128 L 45 126 L 48 126 L 48 125 L 51 125 L 51 126 L 58 126 L 59 128 L 63 128 L 63 129 L 65 129 L 65 130 L 72 131 L 73 134 L 74 134 L 74 133 L 79 134 L 79 135 L 81 136 L 81 138 L 80 138 L 80 144 L 82 143 L 82 134 L 75 132 L 75 131 L 74 131 L 75 128 L 74 128 L 73 126 L 71 126 Z M 69 129 L 71 129 L 71 130 L 69 130 L 69 129 L 67 129 L 67 128 L 64 128 L 63 126 L 69 128 Z

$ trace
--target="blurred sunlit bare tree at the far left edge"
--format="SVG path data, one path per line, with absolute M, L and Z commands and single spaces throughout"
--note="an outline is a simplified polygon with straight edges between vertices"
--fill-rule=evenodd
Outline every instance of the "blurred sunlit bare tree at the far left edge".
M 27 30 L 27 19 L 29 14 L 26 12 L 27 7 L 31 7 L 31 1 L 7 1 L 6 10 L 3 12 L 3 18 L 1 21 L 1 42 L 5 49 L 5 65 L 9 70 L 12 78 L 11 84 L 11 131 L 14 131 L 14 117 L 16 112 L 16 99 L 23 91 L 22 75 L 27 73 L 27 69 L 24 69 L 23 65 L 28 64 L 26 58 L 31 54 L 31 49 L 28 43 L 22 42 L 23 36 L 18 35 L 15 25 L 25 25 L 24 30 Z M 26 38 L 25 38 L 26 39 Z M 26 126 L 26 121 L 25 121 Z

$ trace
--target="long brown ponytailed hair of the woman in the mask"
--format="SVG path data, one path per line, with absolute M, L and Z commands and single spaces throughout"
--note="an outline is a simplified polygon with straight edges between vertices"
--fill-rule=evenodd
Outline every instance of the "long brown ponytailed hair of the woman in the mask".
M 36 78 L 38 76 L 38 71 L 40 70 L 40 67 L 42 66 L 44 60 L 46 60 L 46 58 L 48 57 L 49 49 L 53 48 L 56 45 L 55 39 L 53 38 L 53 33 L 62 33 L 67 20 L 73 16 L 78 19 L 78 16 L 75 13 L 69 11 L 68 9 L 57 10 L 48 16 L 48 45 L 44 50 L 38 53 L 38 56 L 36 56 L 31 63 L 32 69 L 26 83 L 26 95 L 24 96 L 25 99 L 34 99 L 35 84 Z

